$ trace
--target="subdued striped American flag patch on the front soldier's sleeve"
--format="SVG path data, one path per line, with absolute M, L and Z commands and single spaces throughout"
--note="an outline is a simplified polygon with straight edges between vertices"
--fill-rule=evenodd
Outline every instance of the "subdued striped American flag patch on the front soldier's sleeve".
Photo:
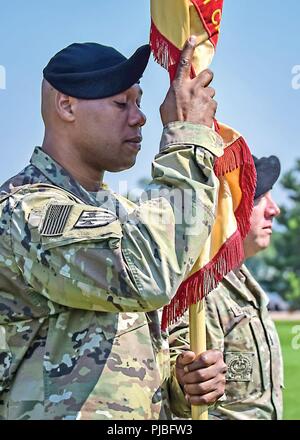
M 49 206 L 42 225 L 41 235 L 62 235 L 71 209 L 72 205 L 66 204 Z

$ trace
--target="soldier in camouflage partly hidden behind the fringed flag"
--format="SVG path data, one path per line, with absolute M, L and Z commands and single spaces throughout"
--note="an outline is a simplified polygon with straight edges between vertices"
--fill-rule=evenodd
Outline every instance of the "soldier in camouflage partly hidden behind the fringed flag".
M 279 208 L 270 190 L 279 177 L 277 157 L 254 158 L 257 187 L 245 257 L 268 247 Z M 210 408 L 212 419 L 282 418 L 283 363 L 268 297 L 245 265 L 230 272 L 206 298 L 207 346 L 224 352 L 228 370 L 225 395 Z M 172 332 L 173 351 L 188 340 L 186 319 Z M 188 391 L 188 388 L 187 388 Z

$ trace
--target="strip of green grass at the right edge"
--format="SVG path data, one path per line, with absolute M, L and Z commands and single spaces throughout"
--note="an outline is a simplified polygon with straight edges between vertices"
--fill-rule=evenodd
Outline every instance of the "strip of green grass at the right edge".
M 300 321 L 275 321 L 275 324 L 284 359 L 283 418 L 300 420 Z

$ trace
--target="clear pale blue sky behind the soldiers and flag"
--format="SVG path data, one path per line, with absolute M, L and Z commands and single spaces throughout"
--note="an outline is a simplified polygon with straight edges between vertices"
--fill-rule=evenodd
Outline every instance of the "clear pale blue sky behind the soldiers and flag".
M 163 1 L 163 0 L 162 0 Z M 0 0 L 0 181 L 16 174 L 41 145 L 42 69 L 73 42 L 95 41 L 129 57 L 149 41 L 150 0 Z M 211 68 L 218 120 L 246 138 L 258 157 L 276 154 L 283 172 L 300 157 L 299 0 L 225 0 Z M 298 75 L 297 75 L 298 74 Z M 142 79 L 148 122 L 135 167 L 106 174 L 116 191 L 150 176 L 161 136 L 159 106 L 169 82 L 151 59 Z M 285 193 L 274 190 L 279 202 Z

